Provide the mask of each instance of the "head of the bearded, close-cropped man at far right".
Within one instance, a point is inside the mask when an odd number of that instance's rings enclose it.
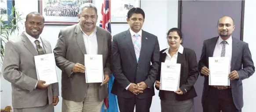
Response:
[[[234,21],[230,17],[223,17],[218,22],[218,34],[221,37],[230,37],[234,31]]]

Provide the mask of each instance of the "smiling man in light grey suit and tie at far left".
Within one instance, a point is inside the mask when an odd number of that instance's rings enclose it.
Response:
[[[26,16],[26,31],[5,44],[2,73],[11,82],[14,112],[54,112],[59,102],[59,83],[44,85],[37,80],[34,56],[51,53],[51,44],[40,34],[44,17],[38,12]]]

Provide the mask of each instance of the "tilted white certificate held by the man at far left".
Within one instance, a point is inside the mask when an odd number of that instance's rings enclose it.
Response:
[[[53,53],[34,56],[34,58],[37,70],[37,80],[45,81],[45,84],[59,82]]]

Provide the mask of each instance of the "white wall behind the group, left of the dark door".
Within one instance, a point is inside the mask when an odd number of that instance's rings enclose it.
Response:
[[[98,8],[98,15],[100,14],[101,5],[103,0],[94,0],[93,4]],[[17,11],[23,13],[23,18],[26,18],[26,14],[32,11],[38,11],[37,0],[15,0]],[[25,6],[25,4],[29,4]],[[154,7],[152,7],[154,6]],[[166,33],[172,27],[177,27],[178,25],[178,0],[142,0],[141,8],[145,12],[145,22],[143,25],[143,30],[148,31],[154,35],[157,35],[160,49],[167,48]],[[25,19],[24,19],[25,20]],[[100,16],[98,18],[99,25]],[[24,23],[20,25],[22,30],[19,34],[24,31]],[[41,36],[51,43],[52,49],[54,49],[55,44],[58,39],[59,30],[66,27],[65,25],[45,25]],[[128,30],[128,24],[111,24],[112,35],[115,35],[121,31]],[[11,37],[15,39],[15,35]],[[61,71],[58,69],[59,78],[61,79]],[[11,105],[11,83],[6,81],[1,76],[0,81],[1,90],[1,105],[0,108],[4,109],[5,106]],[[59,92],[61,94],[61,83],[59,83]],[[160,99],[158,97],[158,91],[155,90],[155,96],[153,97],[150,112],[160,112]],[[60,101],[57,106],[55,106],[55,112],[61,112],[61,102],[62,98],[59,96]]]

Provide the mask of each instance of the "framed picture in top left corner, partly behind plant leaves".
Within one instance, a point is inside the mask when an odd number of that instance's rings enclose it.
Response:
[[[15,18],[15,12],[11,15],[12,7],[15,6],[15,0],[1,0],[1,16],[4,18],[4,23],[9,23],[12,18]]]

